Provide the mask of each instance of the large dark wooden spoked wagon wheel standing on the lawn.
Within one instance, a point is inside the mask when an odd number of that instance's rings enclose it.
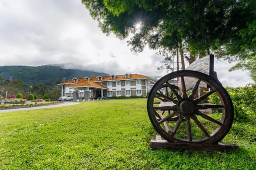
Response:
[[[207,91],[200,95],[203,86]],[[217,104],[207,101],[211,95]],[[149,93],[147,109],[155,130],[169,142],[217,143],[230,130],[234,117],[232,101],[221,83],[191,70],[158,80]]]

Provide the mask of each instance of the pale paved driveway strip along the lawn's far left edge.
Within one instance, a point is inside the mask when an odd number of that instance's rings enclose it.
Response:
[[[77,104],[79,104],[79,102],[65,102],[65,103],[61,103],[61,104],[57,104],[57,105],[5,109],[5,110],[0,110],[0,113],[2,113],[2,112],[15,112],[15,111],[28,111],[28,110],[53,108],[53,107],[63,107],[63,106],[70,106],[70,105],[77,105]]]

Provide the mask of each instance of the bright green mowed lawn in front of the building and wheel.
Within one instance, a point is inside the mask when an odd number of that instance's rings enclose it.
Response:
[[[0,169],[256,169],[255,117],[223,142],[236,151],[153,150],[146,99],[0,113]]]

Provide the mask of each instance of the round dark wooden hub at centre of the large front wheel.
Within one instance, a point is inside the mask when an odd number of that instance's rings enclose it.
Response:
[[[195,104],[189,99],[183,99],[178,103],[178,109],[183,116],[195,114]]]

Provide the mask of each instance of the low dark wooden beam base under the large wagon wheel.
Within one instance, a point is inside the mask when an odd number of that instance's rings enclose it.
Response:
[[[163,140],[160,135],[151,139],[150,145],[153,149],[181,149],[181,150],[235,150],[238,145],[231,143],[198,144],[198,143],[172,143]]]

